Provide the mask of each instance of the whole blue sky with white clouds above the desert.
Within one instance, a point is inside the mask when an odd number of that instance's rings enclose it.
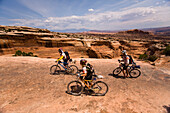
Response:
[[[0,25],[51,31],[170,26],[170,0],[0,0]]]

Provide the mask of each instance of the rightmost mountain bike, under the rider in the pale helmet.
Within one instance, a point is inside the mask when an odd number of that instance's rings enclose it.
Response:
[[[133,64],[131,66],[128,66],[128,72],[129,72],[130,77],[131,78],[139,77],[141,75],[141,71],[139,69],[140,69],[140,65]],[[113,75],[118,76],[122,71],[123,71],[123,64],[120,63],[119,67],[113,70]]]

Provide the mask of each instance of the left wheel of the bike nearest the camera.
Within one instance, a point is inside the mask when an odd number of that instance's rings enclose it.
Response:
[[[76,85],[73,85],[73,84],[76,84]],[[79,85],[78,85],[79,84]],[[77,90],[78,89],[78,90]],[[72,95],[75,95],[75,96],[78,96],[78,95],[81,95],[82,91],[83,91],[83,85],[81,82],[79,81],[71,81],[68,85],[67,85],[67,92],[72,94]]]

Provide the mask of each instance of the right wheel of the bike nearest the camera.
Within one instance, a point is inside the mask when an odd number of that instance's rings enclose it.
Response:
[[[103,93],[99,93],[99,91],[102,90],[102,87],[101,85],[99,86],[99,84],[104,85],[106,88]],[[104,96],[108,92],[108,85],[103,81],[97,81],[92,85],[92,90],[94,91],[95,95]]]

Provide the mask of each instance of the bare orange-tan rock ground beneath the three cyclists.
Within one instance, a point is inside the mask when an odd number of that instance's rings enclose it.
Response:
[[[166,113],[170,109],[170,73],[157,67],[138,61],[142,75],[122,79],[111,76],[117,59],[88,59],[104,76],[109,91],[105,96],[73,96],[66,90],[76,77],[50,75],[54,61],[0,56],[0,113]]]

